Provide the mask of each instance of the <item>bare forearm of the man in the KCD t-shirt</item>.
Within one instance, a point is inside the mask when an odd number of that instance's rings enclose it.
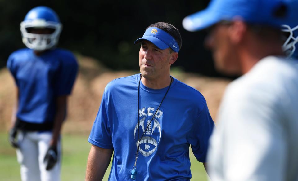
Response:
[[[102,180],[106,173],[114,149],[100,148],[95,145],[91,146],[85,181],[98,181]]]

